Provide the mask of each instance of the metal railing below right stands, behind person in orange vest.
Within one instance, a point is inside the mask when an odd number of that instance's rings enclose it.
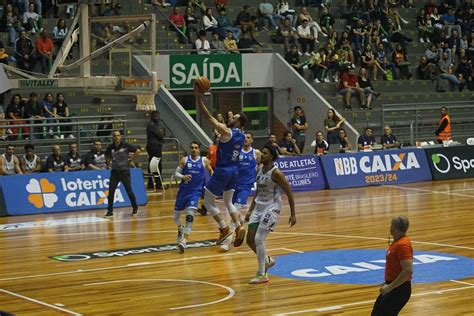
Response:
[[[390,125],[399,139],[409,139],[411,144],[417,140],[433,140],[441,106],[448,107],[455,140],[474,135],[474,101],[383,104],[382,126]]]

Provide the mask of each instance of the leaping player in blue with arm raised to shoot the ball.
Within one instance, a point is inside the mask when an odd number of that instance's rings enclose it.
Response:
[[[196,96],[196,106],[199,108],[201,115],[220,135],[217,145],[216,168],[204,192],[204,205],[219,224],[220,234],[217,244],[221,244],[227,237],[233,234],[233,231],[225,223],[216,206],[216,197],[219,196],[222,196],[225,208],[236,226],[236,241],[243,240],[245,238],[245,229],[240,224],[241,215],[232,203],[232,198],[239,174],[237,167],[238,158],[245,139],[242,128],[247,117],[243,113],[238,113],[227,122],[227,125],[220,123],[207,109],[204,104],[203,94],[197,90],[196,86],[194,87],[194,95]]]

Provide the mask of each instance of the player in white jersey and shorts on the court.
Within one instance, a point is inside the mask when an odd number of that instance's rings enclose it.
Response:
[[[290,185],[273,162],[278,158],[276,148],[266,145],[262,149],[261,165],[257,171],[257,193],[250,205],[245,220],[249,222],[247,244],[257,254],[258,272],[250,284],[269,281],[267,270],[275,260],[265,252],[265,239],[275,229],[281,212],[281,192],[284,191],[290,204],[290,227],[296,224],[295,201]]]

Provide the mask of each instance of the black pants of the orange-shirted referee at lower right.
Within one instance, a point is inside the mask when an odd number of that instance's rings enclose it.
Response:
[[[407,281],[385,295],[380,294],[372,309],[372,316],[396,316],[411,295],[411,282]]]

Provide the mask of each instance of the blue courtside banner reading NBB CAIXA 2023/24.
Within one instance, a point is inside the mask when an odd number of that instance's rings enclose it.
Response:
[[[330,189],[431,180],[423,149],[325,155],[321,162]]]

